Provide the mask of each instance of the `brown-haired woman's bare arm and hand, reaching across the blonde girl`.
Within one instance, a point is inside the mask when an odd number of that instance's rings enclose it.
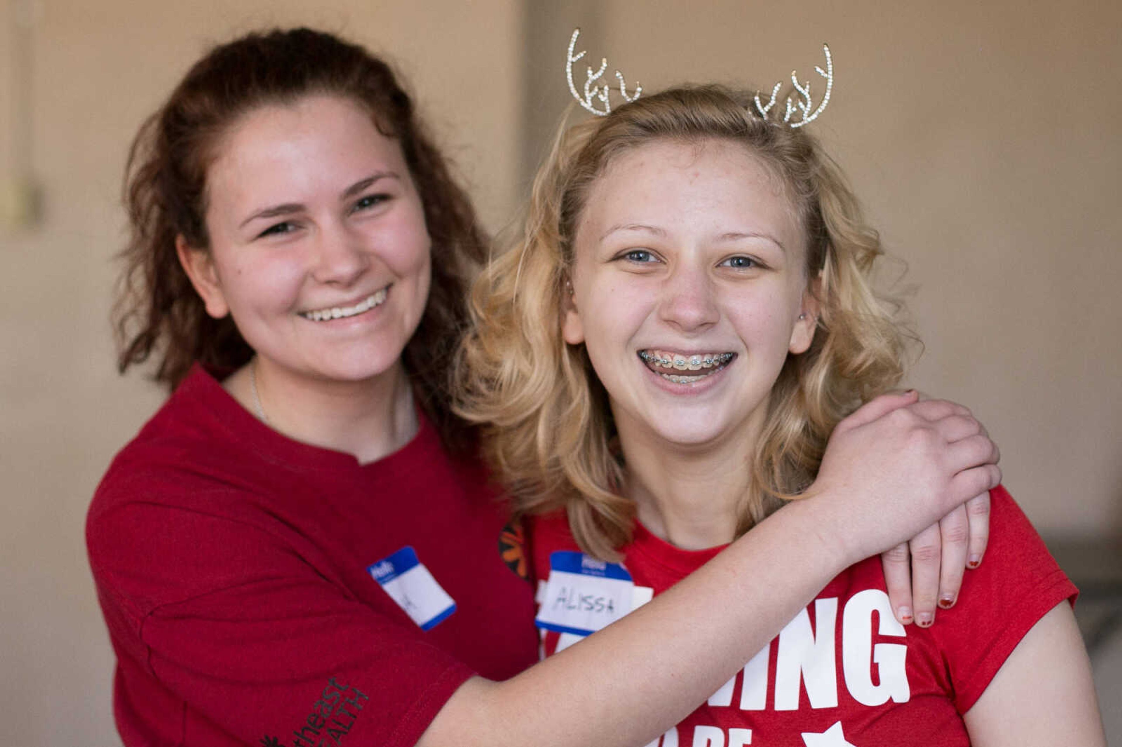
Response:
[[[420,747],[633,747],[663,734],[837,573],[996,485],[1000,473],[984,469],[988,440],[980,454],[945,459],[939,425],[901,412],[913,402],[858,409],[830,439],[806,498],[653,601],[512,680],[466,682]]]

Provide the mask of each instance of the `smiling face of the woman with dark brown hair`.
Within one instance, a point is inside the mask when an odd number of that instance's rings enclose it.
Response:
[[[359,381],[396,370],[429,296],[430,239],[397,142],[335,96],[242,117],[206,173],[209,250],[178,242],[214,317],[263,375]]]

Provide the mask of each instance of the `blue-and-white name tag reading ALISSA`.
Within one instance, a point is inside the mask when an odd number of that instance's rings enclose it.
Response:
[[[632,611],[635,583],[618,563],[606,563],[585,553],[550,554],[537,627],[587,636]]]

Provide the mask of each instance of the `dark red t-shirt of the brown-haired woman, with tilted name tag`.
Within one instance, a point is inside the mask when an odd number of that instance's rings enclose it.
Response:
[[[359,464],[193,370],[88,519],[125,743],[412,745],[472,672],[532,664],[533,600],[495,552],[505,511],[486,486],[426,421]],[[407,570],[416,621],[390,596]]]

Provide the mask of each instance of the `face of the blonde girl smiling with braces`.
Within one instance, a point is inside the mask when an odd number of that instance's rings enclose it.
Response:
[[[640,146],[592,184],[574,252],[563,336],[586,345],[625,448],[754,439],[817,312],[780,182],[736,144]]]

